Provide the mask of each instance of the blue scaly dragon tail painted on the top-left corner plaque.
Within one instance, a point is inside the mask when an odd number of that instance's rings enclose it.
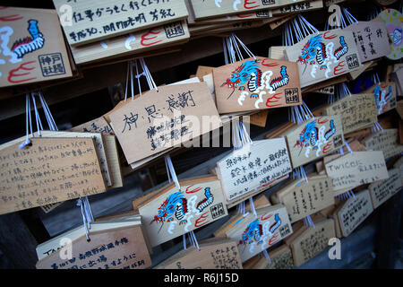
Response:
[[[30,36],[16,40],[11,48],[18,58],[42,48],[45,44],[45,39],[39,31],[37,20],[28,21],[28,31],[30,32]]]

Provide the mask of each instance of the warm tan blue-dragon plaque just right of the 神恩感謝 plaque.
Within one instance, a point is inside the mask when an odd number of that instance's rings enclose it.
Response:
[[[296,63],[248,58],[213,69],[219,114],[301,105]]]

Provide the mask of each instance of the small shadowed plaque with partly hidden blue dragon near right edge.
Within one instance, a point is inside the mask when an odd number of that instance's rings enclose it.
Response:
[[[378,115],[382,115],[390,109],[395,109],[397,106],[396,84],[393,82],[382,82],[381,84],[376,84],[370,89],[364,91],[364,93],[373,94],[376,108],[378,109]]]

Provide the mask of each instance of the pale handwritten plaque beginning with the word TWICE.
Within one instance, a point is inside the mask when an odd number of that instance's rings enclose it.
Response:
[[[347,153],[325,163],[325,169],[332,178],[333,190],[351,189],[388,178],[385,158],[381,151]]]

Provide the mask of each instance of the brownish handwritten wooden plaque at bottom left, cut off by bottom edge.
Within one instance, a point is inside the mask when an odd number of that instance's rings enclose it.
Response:
[[[71,257],[67,254],[70,249]],[[85,235],[44,257],[37,269],[144,269],[150,267],[150,254],[141,226]]]

